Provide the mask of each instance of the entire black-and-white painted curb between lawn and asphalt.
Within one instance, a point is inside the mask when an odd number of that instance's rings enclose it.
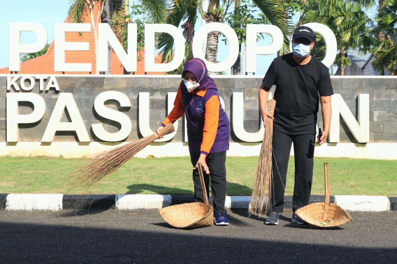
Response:
[[[292,208],[292,196],[285,196],[284,207]],[[226,196],[225,207],[248,209],[251,196]],[[194,202],[193,195],[152,194],[15,194],[0,193],[0,210],[133,210],[159,209],[169,205]],[[313,195],[310,203],[324,202],[324,196]],[[397,197],[335,195],[330,197],[345,210],[379,212],[397,211]],[[212,197],[210,197],[212,203]]]

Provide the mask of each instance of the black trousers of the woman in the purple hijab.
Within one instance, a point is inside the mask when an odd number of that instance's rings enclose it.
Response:
[[[190,153],[190,160],[193,166],[196,166],[200,153]],[[214,199],[214,214],[224,213],[225,210],[225,198],[226,198],[226,151],[208,153],[206,158],[206,163],[210,169],[210,174],[204,172],[204,182],[207,190],[207,197],[210,195],[210,190],[208,189],[211,177],[211,191],[212,198]],[[193,183],[195,184],[195,200],[204,203],[203,190],[200,182],[200,174],[198,169],[193,170]]]

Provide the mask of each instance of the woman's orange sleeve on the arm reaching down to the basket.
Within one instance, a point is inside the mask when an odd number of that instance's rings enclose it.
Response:
[[[200,153],[208,155],[214,144],[219,122],[219,98],[214,95],[205,103],[204,129]]]

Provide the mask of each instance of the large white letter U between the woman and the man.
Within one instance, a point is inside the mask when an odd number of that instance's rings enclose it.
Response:
[[[244,142],[260,142],[263,140],[263,134],[265,128],[263,126],[262,116],[259,120],[259,131],[258,132],[247,132],[244,130],[244,93],[234,92],[233,93],[233,107],[232,107],[232,117],[233,117],[233,132],[240,140]],[[272,94],[269,94],[269,99],[272,98]]]

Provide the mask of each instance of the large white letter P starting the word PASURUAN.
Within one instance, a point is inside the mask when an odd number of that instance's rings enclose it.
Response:
[[[8,93],[6,94],[7,109],[7,142],[18,141],[18,124],[31,124],[40,121],[46,110],[46,102],[38,94]],[[27,115],[18,114],[18,102],[25,101],[33,104],[34,110]]]

